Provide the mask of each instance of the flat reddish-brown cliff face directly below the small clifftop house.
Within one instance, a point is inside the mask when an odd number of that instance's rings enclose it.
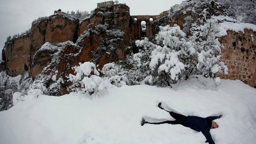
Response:
[[[78,18],[55,14],[50,16],[46,27],[45,42],[76,41]]]

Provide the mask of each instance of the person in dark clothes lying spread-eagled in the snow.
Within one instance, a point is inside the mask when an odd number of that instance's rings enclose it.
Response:
[[[165,110],[164,108],[161,107],[161,102],[158,103],[158,107],[161,108],[162,110]],[[166,110],[165,110],[166,111]],[[206,118],[198,117],[198,116],[185,116],[181,115],[178,113],[175,113],[173,111],[167,111],[169,114],[176,120],[167,120],[164,122],[158,122],[158,123],[152,123],[145,121],[144,118],[141,120],[141,126],[143,126],[145,123],[150,123],[150,124],[163,124],[163,123],[169,123],[169,124],[181,124],[185,127],[191,128],[197,132],[202,132],[202,134],[206,137],[206,143],[209,144],[215,144],[214,141],[211,138],[210,134],[210,128],[218,128],[218,124],[214,122],[214,119],[219,119],[222,117],[222,115],[219,116],[209,116]]]

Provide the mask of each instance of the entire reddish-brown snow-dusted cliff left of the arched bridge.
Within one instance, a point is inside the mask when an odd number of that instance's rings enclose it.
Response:
[[[49,95],[64,95],[70,85],[66,76],[74,73],[72,67],[79,62],[91,61],[100,69],[124,60],[131,53],[131,23],[124,4],[97,8],[85,20],[59,13],[37,19],[30,32],[5,43],[0,70],[12,77],[26,74],[26,78],[16,78],[14,85],[1,73],[0,110],[12,106],[12,94],[26,89],[24,82],[39,82]]]

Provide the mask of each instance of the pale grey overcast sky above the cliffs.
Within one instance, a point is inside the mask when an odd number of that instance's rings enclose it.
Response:
[[[0,0],[0,49],[8,36],[30,29],[33,20],[62,11],[88,11],[104,0]],[[108,0],[106,0],[108,1]],[[115,0],[113,0],[115,1]],[[131,15],[158,15],[183,0],[119,0],[130,7]],[[0,56],[1,57],[1,56]]]

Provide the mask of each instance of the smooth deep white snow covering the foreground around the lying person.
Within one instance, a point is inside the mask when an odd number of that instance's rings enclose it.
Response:
[[[231,80],[216,89],[212,80],[192,77],[172,89],[122,86],[93,98],[31,93],[0,112],[0,144],[205,144],[201,132],[182,125],[140,126],[142,117],[173,119],[158,102],[184,115],[222,114],[210,131],[216,144],[255,144],[256,89]]]

